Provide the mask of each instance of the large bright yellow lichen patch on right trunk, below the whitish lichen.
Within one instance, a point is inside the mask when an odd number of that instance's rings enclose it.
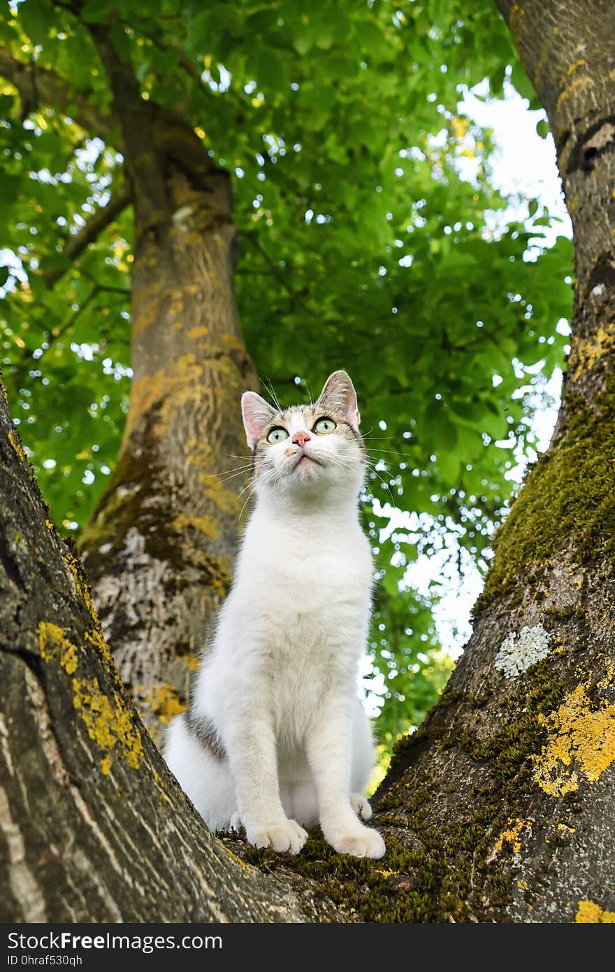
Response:
[[[539,719],[549,737],[531,759],[534,781],[545,793],[572,793],[580,778],[596,782],[615,761],[615,705],[602,702],[593,712],[584,685],[568,692],[557,712]]]

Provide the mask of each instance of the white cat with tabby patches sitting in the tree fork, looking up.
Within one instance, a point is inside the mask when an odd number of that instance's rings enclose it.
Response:
[[[358,697],[371,550],[359,525],[365,447],[353,383],[277,409],[241,399],[256,495],[216,633],[166,761],[211,830],[298,853],[320,823],[341,853],[382,857],[363,822],[374,765]]]

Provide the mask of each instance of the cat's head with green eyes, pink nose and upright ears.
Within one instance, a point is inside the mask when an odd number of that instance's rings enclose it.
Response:
[[[253,450],[256,493],[358,496],[365,474],[357,394],[346,371],[334,371],[319,399],[273,408],[256,392],[241,399]]]

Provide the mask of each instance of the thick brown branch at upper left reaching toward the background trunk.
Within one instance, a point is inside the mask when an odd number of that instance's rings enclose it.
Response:
[[[58,108],[70,115],[90,135],[112,144],[121,151],[121,137],[115,120],[101,115],[83,92],[74,91],[70,83],[48,68],[38,67],[35,61],[25,64],[5,47],[0,46],[0,75],[10,81],[19,92],[21,117],[26,118],[40,103]],[[69,110],[70,109],[70,110]]]

